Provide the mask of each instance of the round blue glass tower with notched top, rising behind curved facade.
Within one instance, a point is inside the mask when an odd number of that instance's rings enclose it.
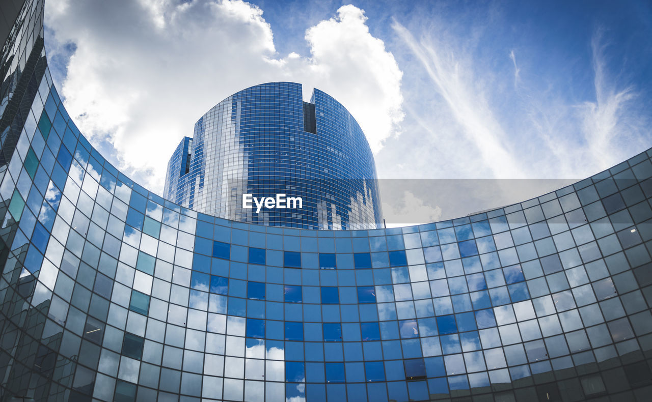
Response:
[[[301,197],[302,208],[243,208],[243,194]],[[222,100],[168,163],[164,198],[204,214],[301,229],[378,229],[376,165],[344,106],[301,84],[256,85]]]

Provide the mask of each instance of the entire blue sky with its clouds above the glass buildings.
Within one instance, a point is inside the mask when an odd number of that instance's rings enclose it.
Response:
[[[272,80],[340,100],[386,179],[582,179],[652,146],[649,2],[48,0],[46,16],[71,115],[159,192],[207,109]],[[475,208],[428,197],[385,213]]]

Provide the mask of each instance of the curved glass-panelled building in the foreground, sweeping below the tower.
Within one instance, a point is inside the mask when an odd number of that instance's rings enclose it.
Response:
[[[445,222],[235,222],[148,192],[80,134],[42,1],[8,32],[1,400],[649,400],[652,150]]]

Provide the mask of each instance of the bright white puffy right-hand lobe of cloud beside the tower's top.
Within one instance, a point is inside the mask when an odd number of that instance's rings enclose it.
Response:
[[[348,99],[344,106],[363,128],[372,151],[378,151],[404,117],[403,73],[383,41],[369,33],[363,10],[346,5],[337,13],[338,18],[306,32],[310,76],[315,76],[315,85],[325,81],[320,89],[334,98]]]

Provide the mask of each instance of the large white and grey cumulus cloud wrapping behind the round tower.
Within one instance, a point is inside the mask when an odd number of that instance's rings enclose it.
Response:
[[[263,11],[241,0],[48,0],[46,25],[48,57],[70,51],[58,85],[70,115],[156,192],[194,122],[251,85],[318,87],[351,111],[374,151],[403,119],[402,72],[351,5],[306,31],[309,55],[279,55]]]

